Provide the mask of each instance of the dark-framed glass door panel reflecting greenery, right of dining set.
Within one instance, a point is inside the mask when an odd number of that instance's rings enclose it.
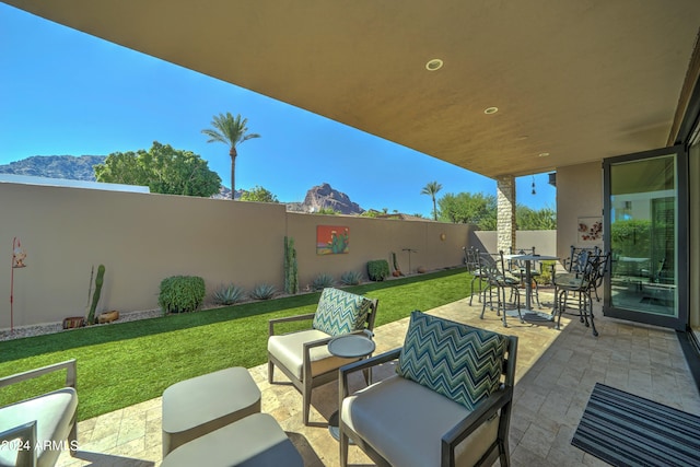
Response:
[[[667,148],[606,159],[604,314],[685,329],[687,157]]]

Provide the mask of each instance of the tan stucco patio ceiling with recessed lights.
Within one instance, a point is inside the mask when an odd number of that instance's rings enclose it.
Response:
[[[700,25],[698,0],[7,3],[491,177],[666,145]]]

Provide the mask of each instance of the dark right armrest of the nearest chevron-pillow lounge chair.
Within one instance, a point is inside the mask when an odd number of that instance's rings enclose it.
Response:
[[[471,413],[450,429],[441,441],[442,466],[454,466],[455,447],[512,400],[513,388],[506,386],[479,402]]]

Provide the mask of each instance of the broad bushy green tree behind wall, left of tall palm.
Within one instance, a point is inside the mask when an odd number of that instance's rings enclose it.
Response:
[[[153,141],[150,150],[115,152],[94,167],[97,182],[148,186],[151,192],[210,197],[221,178],[191,151]]]

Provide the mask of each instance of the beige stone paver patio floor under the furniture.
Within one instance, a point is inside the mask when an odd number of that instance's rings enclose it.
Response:
[[[551,295],[547,300],[547,293],[541,292],[540,296],[544,305],[551,303]],[[571,446],[596,382],[700,415],[698,387],[673,330],[605,318],[599,306],[597,338],[568,315],[561,330],[552,323],[521,324],[516,318],[509,318],[504,328],[495,312],[487,308],[480,319],[480,304],[476,299],[474,306],[468,302],[463,299],[428,313],[518,336],[510,433],[514,466],[606,465]],[[407,325],[405,318],[376,328],[376,353],[399,347]],[[302,453],[305,466],[337,466],[338,442],[325,425],[303,425],[301,395],[289,384],[268,384],[267,364],[249,371],[262,393],[262,411],[278,420]],[[281,372],[275,375],[276,382],[285,381]],[[148,384],[148,375],[143,375],[143,384]],[[325,424],[338,406],[337,383],[315,389],[312,406],[311,420]],[[82,421],[78,441],[77,457],[63,453],[59,466],[160,465],[161,399]],[[373,465],[357,447],[350,447],[350,463]]]

